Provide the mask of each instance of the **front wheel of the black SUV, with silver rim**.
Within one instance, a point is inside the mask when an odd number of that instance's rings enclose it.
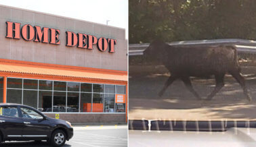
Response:
[[[52,146],[63,146],[66,142],[66,133],[61,129],[57,129],[51,134],[50,142]]]

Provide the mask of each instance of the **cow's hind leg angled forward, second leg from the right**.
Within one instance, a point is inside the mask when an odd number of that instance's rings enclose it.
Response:
[[[217,92],[219,92],[219,90],[221,90],[221,88],[224,86],[224,76],[225,73],[215,75],[216,86],[213,92],[207,96],[207,100],[211,100],[211,98],[213,98],[213,96],[215,96],[215,94],[217,94]]]

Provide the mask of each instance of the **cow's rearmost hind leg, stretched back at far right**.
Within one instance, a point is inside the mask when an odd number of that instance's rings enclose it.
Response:
[[[242,90],[244,90],[244,95],[247,97],[249,101],[251,101],[251,95],[248,92],[247,86],[245,85],[244,77],[239,71],[230,71],[229,72],[235,79],[236,81],[240,84],[242,87]]]

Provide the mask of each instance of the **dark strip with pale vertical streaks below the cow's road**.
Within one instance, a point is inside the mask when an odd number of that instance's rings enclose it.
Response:
[[[256,121],[158,121],[129,120],[129,129],[166,131],[226,131],[232,127],[256,127]]]

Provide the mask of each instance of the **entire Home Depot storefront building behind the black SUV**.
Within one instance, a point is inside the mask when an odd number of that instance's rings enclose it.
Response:
[[[0,100],[72,123],[127,121],[125,30],[0,6]]]

